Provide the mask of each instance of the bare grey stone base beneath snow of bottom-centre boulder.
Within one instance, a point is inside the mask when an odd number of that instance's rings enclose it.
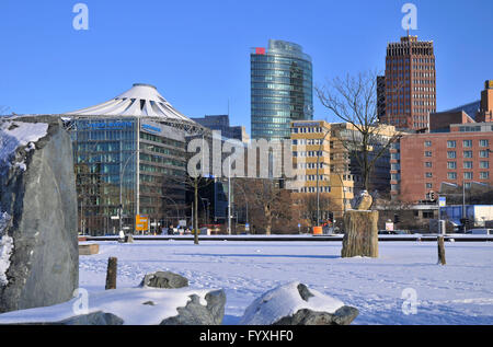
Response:
[[[352,306],[342,306],[334,313],[298,310],[294,315],[282,317],[273,325],[348,325],[359,311]]]

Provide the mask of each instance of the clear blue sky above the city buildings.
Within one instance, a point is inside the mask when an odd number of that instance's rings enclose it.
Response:
[[[89,31],[72,27],[78,2]],[[411,34],[435,43],[437,108],[478,100],[493,79],[491,0],[0,0],[0,105],[64,113],[144,82],[191,117],[225,114],[229,100],[231,123],[250,132],[251,47],[300,44],[316,84],[382,71],[406,2],[417,7]],[[314,117],[336,120],[316,97]]]

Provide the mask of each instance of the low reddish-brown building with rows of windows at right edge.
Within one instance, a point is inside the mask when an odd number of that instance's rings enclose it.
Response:
[[[390,172],[392,196],[415,203],[438,194],[444,184],[465,188],[470,188],[472,183],[493,185],[493,103],[489,102],[492,86],[486,81],[475,115],[465,111],[433,113],[431,132],[410,134],[394,144]]]

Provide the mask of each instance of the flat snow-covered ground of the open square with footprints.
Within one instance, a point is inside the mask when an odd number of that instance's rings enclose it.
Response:
[[[238,324],[254,299],[293,280],[359,309],[353,324],[493,324],[491,242],[447,242],[446,266],[437,265],[435,242],[380,242],[377,259],[341,258],[341,242],[99,244],[100,254],[80,256],[81,288],[104,290],[107,258],[116,256],[118,288],[156,270],[183,275],[192,288],[223,288],[225,324]]]

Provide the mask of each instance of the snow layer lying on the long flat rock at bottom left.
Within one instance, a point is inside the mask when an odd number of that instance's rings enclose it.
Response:
[[[13,311],[0,314],[0,324],[56,323],[77,315],[102,311],[112,313],[125,325],[158,325],[179,314],[196,294],[203,305],[209,289],[125,288],[89,294],[79,289],[77,298],[47,308]]]

